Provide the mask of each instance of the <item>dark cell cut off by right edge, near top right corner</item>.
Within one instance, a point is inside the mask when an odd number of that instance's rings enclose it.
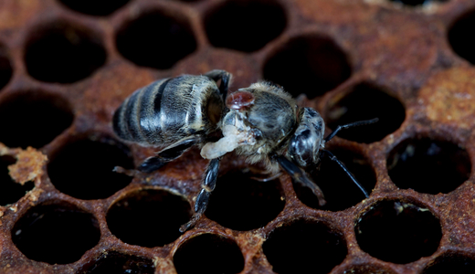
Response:
[[[475,64],[475,39],[471,38],[473,26],[475,26],[475,11],[471,10],[449,28],[449,43],[455,53],[465,58],[471,64]]]

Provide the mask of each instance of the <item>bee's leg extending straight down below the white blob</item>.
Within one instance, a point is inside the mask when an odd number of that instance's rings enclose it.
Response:
[[[201,180],[201,191],[196,197],[195,214],[190,221],[180,227],[180,232],[184,233],[188,228],[195,226],[196,222],[203,216],[209,202],[209,196],[215,190],[217,171],[221,158],[212,159],[206,167],[206,172]]]

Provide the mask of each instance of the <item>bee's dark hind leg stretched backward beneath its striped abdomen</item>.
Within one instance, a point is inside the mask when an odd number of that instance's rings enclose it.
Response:
[[[190,136],[178,142],[174,142],[157,153],[156,156],[145,159],[145,161],[143,161],[143,163],[138,167],[138,170],[142,173],[151,173],[161,168],[166,163],[180,157],[200,140],[200,137]]]

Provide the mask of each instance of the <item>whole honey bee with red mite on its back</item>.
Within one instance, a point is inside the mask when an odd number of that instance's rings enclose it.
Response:
[[[228,94],[230,80],[230,73],[218,69],[201,76],[160,79],[134,91],[113,116],[113,130],[122,140],[164,147],[138,167],[141,172],[161,168],[194,145],[210,160],[195,200],[195,213],[180,227],[181,232],[195,226],[205,213],[216,186],[219,161],[233,151],[246,157],[248,163],[265,163],[269,174],[279,174],[282,168],[295,182],[309,187],[320,205],[326,203],[322,190],[303,169],[327,155],[368,197],[364,187],[324,150],[324,145],[342,129],[377,119],[339,126],[323,138],[325,123],[319,112],[299,107],[280,86],[261,81]],[[219,132],[221,138],[213,140]]]

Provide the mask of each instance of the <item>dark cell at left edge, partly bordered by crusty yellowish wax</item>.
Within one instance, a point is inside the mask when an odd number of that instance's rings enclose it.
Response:
[[[0,205],[16,203],[26,192],[35,187],[33,182],[18,184],[8,174],[8,165],[15,163],[15,159],[9,156],[0,157]]]

